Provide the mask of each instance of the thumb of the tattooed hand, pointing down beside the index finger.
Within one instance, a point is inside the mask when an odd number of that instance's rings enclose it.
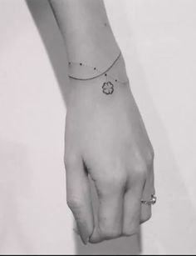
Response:
[[[86,244],[94,227],[88,173],[80,157],[66,158],[65,163],[67,204],[76,219],[81,240]]]

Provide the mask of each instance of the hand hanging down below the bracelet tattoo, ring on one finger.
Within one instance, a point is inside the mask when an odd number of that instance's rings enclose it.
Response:
[[[71,81],[66,114],[67,203],[84,243],[137,233],[151,216],[153,148],[129,86],[102,93],[103,78]],[[88,175],[99,198],[93,213]]]

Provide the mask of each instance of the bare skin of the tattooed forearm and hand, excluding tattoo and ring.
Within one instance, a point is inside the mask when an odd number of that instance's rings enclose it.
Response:
[[[105,7],[96,0],[51,1],[69,61],[93,63],[105,70],[118,56]],[[90,70],[76,68],[78,76]],[[127,81],[124,58],[109,74]],[[141,204],[154,193],[154,151],[130,84],[114,83],[105,95],[101,76],[90,81],[70,79],[67,98],[65,163],[67,203],[84,243],[131,236],[151,217]],[[99,206],[93,212],[91,177]]]

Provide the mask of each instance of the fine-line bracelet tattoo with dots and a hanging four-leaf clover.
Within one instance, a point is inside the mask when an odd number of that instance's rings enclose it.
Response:
[[[120,54],[118,55],[117,58],[115,58],[115,61],[110,65],[109,68],[107,68],[104,72],[100,71],[98,68],[96,67],[92,67],[90,65],[86,65],[84,63],[74,63],[74,62],[69,62],[69,66],[71,67],[72,65],[78,65],[78,66],[83,66],[85,68],[91,68],[93,69],[94,71],[96,71],[98,74],[94,77],[91,77],[91,78],[76,78],[72,75],[69,75],[69,78],[72,78],[72,79],[75,79],[75,80],[81,80],[81,81],[88,81],[88,80],[92,80],[92,79],[95,79],[95,78],[99,78],[101,76],[105,76],[105,83],[103,83],[102,85],[102,92],[105,93],[106,95],[110,95],[114,92],[114,82],[115,83],[121,83],[121,84],[126,84],[126,83],[129,83],[129,81],[120,81],[119,79],[117,78],[114,78],[113,76],[111,76],[110,74],[108,74],[108,72],[110,71],[110,69],[115,65],[115,63],[119,60],[121,56],[121,52]],[[110,78],[110,79],[109,79]],[[110,80],[113,80],[114,82],[111,83]]]

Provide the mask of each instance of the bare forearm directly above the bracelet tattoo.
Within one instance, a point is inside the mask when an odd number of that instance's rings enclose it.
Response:
[[[120,53],[102,0],[51,0],[70,61],[103,70]]]

